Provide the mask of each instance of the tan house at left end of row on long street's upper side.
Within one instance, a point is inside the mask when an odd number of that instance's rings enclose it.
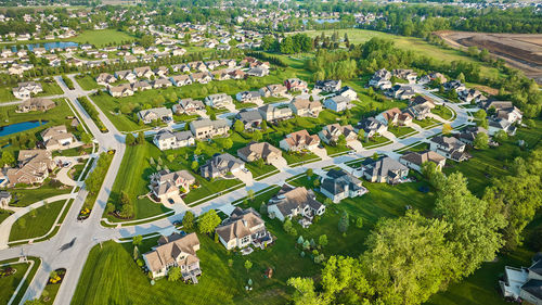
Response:
[[[195,182],[196,179],[188,170],[169,171],[169,169],[163,169],[151,175],[150,189],[154,196],[165,202],[168,199],[190,192],[190,186]]]

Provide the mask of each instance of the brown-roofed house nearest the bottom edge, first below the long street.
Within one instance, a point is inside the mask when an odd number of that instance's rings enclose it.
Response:
[[[184,281],[197,283],[196,277],[202,275],[199,258],[196,255],[198,250],[199,240],[196,233],[172,233],[169,237],[160,237],[158,245],[143,254],[143,260],[153,278],[166,277],[169,268],[180,267]]]

